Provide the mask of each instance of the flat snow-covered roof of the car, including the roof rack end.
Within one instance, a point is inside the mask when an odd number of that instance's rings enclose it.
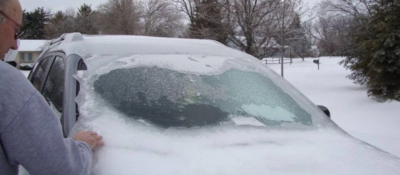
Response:
[[[121,55],[121,57],[170,54],[252,57],[214,40],[81,33],[68,33],[54,39],[48,51],[63,51],[67,57],[78,54],[83,58],[94,54]]]

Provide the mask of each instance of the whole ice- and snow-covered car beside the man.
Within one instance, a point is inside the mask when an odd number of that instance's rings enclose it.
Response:
[[[93,175],[398,175],[258,59],[200,39],[53,40],[28,79],[64,136],[96,131]]]

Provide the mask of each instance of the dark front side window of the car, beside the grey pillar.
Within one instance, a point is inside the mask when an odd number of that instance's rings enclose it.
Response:
[[[59,119],[62,114],[64,76],[64,59],[62,59],[62,57],[56,57],[50,69],[42,94],[50,107],[58,115]]]

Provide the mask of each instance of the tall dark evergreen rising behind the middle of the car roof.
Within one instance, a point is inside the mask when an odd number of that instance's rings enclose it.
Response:
[[[190,25],[190,37],[213,39],[226,44],[228,28],[223,22],[221,6],[218,0],[202,0],[196,6],[193,24]]]

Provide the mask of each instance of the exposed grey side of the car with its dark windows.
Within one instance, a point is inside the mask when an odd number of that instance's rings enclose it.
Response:
[[[72,54],[52,52],[38,60],[33,73],[28,77],[35,88],[44,96],[50,108],[61,122],[64,137],[78,120],[78,105],[74,101],[79,92],[79,82],[72,76],[78,70],[86,70],[82,58]],[[40,81],[39,81],[40,80]]]

